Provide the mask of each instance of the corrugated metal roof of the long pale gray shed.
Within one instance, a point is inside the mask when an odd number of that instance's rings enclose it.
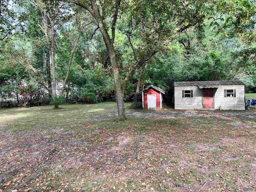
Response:
[[[245,85],[242,81],[191,81],[174,82],[174,86],[198,86],[199,88],[220,88],[222,85]]]

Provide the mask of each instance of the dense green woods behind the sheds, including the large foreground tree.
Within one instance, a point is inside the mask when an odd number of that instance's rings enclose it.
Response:
[[[124,101],[156,84],[242,80],[256,91],[253,0],[2,0],[0,106]]]

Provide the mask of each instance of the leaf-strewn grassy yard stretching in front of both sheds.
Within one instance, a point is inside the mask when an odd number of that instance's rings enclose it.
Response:
[[[0,192],[256,190],[255,109],[130,105],[0,109]]]

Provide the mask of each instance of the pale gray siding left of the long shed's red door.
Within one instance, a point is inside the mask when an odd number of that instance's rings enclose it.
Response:
[[[182,90],[193,90],[192,98],[182,98]],[[174,109],[202,109],[202,89],[198,86],[175,86]]]

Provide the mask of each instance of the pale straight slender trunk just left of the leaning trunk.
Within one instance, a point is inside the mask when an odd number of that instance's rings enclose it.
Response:
[[[55,29],[54,29],[55,20],[51,21],[51,59],[52,59],[52,97],[56,96],[56,68],[55,68],[55,48],[54,48],[54,38],[55,38]]]

